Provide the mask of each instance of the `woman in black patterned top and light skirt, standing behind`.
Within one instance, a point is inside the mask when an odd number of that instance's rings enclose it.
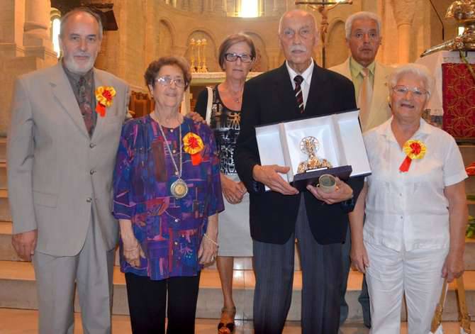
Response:
[[[249,36],[235,34],[226,38],[219,50],[220,67],[226,73],[225,81],[212,89],[210,108],[208,89],[201,91],[195,108],[196,112],[209,120],[209,125],[214,130],[220,154],[221,185],[226,199],[225,211],[219,216],[220,248],[216,258],[224,299],[218,324],[220,334],[233,333],[235,328],[234,257],[252,256],[249,196],[235,169],[234,150],[240,130],[242,90],[255,57],[255,46]]]

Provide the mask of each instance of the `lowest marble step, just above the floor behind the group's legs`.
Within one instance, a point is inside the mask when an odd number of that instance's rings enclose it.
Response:
[[[475,271],[467,271],[464,274],[464,278],[466,304],[469,307],[469,313],[475,314]],[[301,282],[301,272],[295,272],[294,291],[288,316],[289,321],[298,321],[300,318]],[[125,278],[118,267],[114,268],[113,283],[113,314],[127,315]],[[361,283],[362,274],[350,272],[347,291],[347,302],[350,305],[349,321],[362,321],[362,311],[357,302]],[[238,308],[237,317],[240,319],[252,318],[252,298],[255,288],[253,272],[251,270],[235,270],[233,288],[233,296]],[[222,303],[223,297],[218,272],[215,269],[203,270],[196,311],[197,318],[218,318]],[[0,308],[38,308],[35,274],[30,262],[0,261]],[[78,305],[76,305],[75,309],[79,311]],[[404,314],[405,311],[403,311]],[[457,299],[452,284],[447,298],[444,319],[445,321],[457,321],[457,317]]]

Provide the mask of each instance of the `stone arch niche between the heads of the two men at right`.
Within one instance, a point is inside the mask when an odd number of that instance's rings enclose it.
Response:
[[[337,18],[328,27],[325,41],[325,67],[332,67],[344,62],[348,57],[345,41],[345,22]]]

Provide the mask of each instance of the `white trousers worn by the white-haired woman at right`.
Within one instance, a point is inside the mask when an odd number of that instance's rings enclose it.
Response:
[[[371,305],[370,334],[401,333],[403,293],[408,308],[408,334],[430,332],[430,323],[442,291],[442,267],[448,248],[402,250],[365,242],[366,272]]]

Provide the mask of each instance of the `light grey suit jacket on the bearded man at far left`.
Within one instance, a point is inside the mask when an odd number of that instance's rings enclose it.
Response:
[[[45,254],[77,255],[93,211],[107,249],[118,240],[111,184],[129,88],[99,69],[94,81],[116,96],[89,138],[60,63],[16,80],[7,145],[13,233],[38,229],[36,250]]]

